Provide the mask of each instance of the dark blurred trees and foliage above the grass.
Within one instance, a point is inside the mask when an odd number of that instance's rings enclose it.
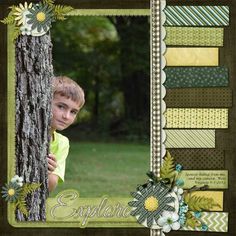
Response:
[[[84,89],[86,104],[66,131],[73,140],[149,143],[147,16],[80,16],[52,28],[54,73]]]

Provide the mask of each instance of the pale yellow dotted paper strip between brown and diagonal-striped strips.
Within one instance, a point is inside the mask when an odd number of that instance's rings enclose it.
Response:
[[[166,128],[228,128],[228,109],[225,108],[168,108]]]

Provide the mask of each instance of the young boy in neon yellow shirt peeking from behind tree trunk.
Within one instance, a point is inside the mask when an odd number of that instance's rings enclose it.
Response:
[[[84,105],[84,91],[73,80],[65,76],[53,79],[52,122],[50,154],[48,157],[48,186],[53,191],[58,181],[64,181],[69,140],[56,130],[69,127]]]

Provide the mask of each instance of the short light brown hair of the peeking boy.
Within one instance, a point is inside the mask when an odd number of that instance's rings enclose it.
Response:
[[[53,96],[59,94],[77,102],[81,108],[85,103],[83,89],[72,79],[66,76],[53,78]]]

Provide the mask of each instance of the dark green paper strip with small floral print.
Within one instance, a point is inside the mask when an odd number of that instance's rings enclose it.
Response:
[[[166,88],[226,87],[228,69],[225,67],[166,67]]]

